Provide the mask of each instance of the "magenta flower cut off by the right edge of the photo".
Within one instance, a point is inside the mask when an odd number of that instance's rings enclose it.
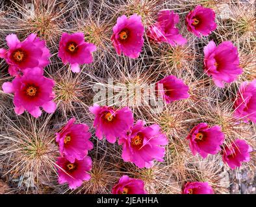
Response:
[[[256,123],[256,80],[240,85],[235,101],[235,116]]]

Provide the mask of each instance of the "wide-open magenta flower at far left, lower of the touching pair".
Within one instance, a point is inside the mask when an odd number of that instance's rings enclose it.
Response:
[[[23,76],[16,76],[12,82],[3,83],[4,93],[14,93],[14,105],[16,114],[22,114],[27,110],[32,116],[38,118],[42,111],[54,113],[56,103],[53,93],[54,81],[43,76],[40,68],[25,71]]]

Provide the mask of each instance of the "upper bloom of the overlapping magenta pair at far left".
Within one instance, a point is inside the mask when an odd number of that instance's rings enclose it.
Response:
[[[49,64],[51,54],[45,46],[45,41],[37,38],[36,34],[30,34],[22,42],[16,34],[9,34],[6,41],[9,49],[0,49],[0,58],[5,58],[11,76],[16,76],[19,70],[25,72],[27,69],[40,68],[43,71]]]

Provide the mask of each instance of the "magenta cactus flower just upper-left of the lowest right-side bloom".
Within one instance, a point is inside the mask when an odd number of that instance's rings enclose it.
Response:
[[[220,145],[224,142],[224,133],[218,125],[209,128],[206,123],[200,123],[190,131],[186,139],[189,140],[193,155],[199,153],[205,158],[208,154],[215,155],[220,151]]]

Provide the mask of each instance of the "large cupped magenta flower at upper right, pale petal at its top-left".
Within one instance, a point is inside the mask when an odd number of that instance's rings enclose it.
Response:
[[[214,41],[210,41],[203,49],[205,53],[205,72],[212,76],[212,80],[218,87],[224,87],[224,83],[237,80],[242,74],[239,67],[237,47],[231,41],[224,41],[216,47]]]

